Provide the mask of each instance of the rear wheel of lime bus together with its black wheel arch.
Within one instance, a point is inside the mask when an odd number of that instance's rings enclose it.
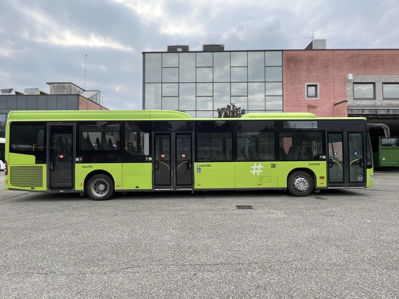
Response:
[[[108,171],[94,170],[86,175],[83,188],[91,199],[105,201],[115,193],[115,180]]]

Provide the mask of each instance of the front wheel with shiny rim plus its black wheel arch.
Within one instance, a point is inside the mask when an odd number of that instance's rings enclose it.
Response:
[[[295,197],[308,196],[316,182],[316,174],[311,169],[295,168],[287,175],[287,190]]]

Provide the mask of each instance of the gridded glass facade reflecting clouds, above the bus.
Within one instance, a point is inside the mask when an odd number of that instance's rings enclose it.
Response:
[[[143,109],[212,118],[230,103],[282,112],[282,51],[143,53]]]

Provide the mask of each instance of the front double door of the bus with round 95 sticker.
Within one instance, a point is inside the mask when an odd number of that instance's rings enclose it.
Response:
[[[328,132],[328,187],[365,187],[364,132]]]

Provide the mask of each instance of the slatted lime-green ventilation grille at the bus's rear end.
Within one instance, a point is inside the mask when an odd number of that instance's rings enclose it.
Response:
[[[11,166],[10,184],[15,187],[43,187],[43,167]]]

